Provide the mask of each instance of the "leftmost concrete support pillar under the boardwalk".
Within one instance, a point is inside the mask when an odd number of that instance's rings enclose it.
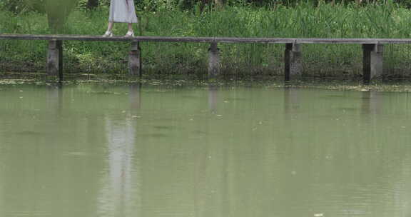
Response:
[[[63,41],[49,41],[47,75],[59,76],[59,81],[63,81]]]

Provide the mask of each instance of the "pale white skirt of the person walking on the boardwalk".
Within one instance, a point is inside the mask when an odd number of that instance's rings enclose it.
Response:
[[[110,22],[116,23],[137,23],[136,9],[133,0],[111,0]]]

